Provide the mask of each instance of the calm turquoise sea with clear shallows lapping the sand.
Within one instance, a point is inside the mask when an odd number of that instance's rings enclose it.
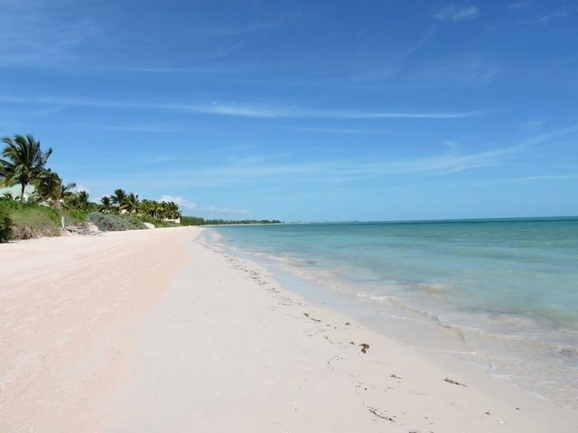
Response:
[[[375,325],[410,344],[470,354],[489,373],[578,406],[578,218],[206,233],[211,244],[308,281],[307,290],[367,307]]]

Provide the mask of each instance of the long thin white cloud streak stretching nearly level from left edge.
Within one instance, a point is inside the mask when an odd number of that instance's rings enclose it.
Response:
[[[154,109],[182,111],[199,115],[225,115],[255,118],[331,118],[331,119],[462,119],[484,115],[480,111],[464,112],[363,112],[347,110],[312,110],[295,107],[246,106],[235,103],[211,102],[187,103],[144,103],[126,100],[106,100],[82,97],[10,97],[0,95],[0,102],[30,105],[93,106],[107,108],[130,108],[135,110]]]

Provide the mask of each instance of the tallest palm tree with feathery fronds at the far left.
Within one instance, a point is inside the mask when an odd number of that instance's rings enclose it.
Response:
[[[6,186],[20,185],[20,201],[24,201],[24,189],[38,181],[48,170],[44,167],[52,149],[42,152],[40,142],[32,135],[14,135],[2,139],[4,159],[0,159],[0,177]]]

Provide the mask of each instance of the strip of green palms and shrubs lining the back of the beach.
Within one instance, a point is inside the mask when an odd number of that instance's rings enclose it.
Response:
[[[172,201],[140,198],[126,189],[92,201],[89,191],[65,182],[48,167],[52,149],[42,151],[31,134],[2,139],[0,188],[14,187],[0,197],[0,242],[61,235],[63,226],[94,225],[101,231],[135,230],[147,226],[274,224],[278,220],[231,221],[183,217]]]

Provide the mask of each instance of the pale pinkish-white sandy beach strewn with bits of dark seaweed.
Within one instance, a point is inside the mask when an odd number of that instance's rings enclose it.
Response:
[[[578,429],[575,410],[313,306],[200,230],[0,245],[0,431]]]

